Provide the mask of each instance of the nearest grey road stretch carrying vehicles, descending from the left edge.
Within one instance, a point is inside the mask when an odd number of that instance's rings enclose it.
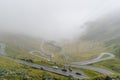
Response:
[[[62,71],[62,69],[60,69],[60,68],[54,69],[53,67],[48,67],[48,66],[38,65],[38,64],[35,64],[35,63],[26,62],[26,61],[23,61],[23,60],[13,59],[13,58],[7,57],[7,55],[4,55],[4,53],[5,53],[5,45],[3,46],[2,44],[0,44],[0,55],[4,58],[10,59],[10,60],[15,61],[17,63],[24,64],[24,65],[27,65],[27,66],[30,66],[30,67],[33,67],[33,68],[36,68],[36,69],[41,69],[41,70],[44,70],[44,71],[49,71],[49,72],[52,72],[52,73],[56,73],[56,74],[59,74],[59,75],[62,75],[62,76],[73,77],[73,78],[77,78],[77,79],[88,78],[84,74],[77,75],[76,73],[82,73],[82,72],[79,72],[79,71],[76,71],[76,70],[72,70],[72,71],[67,70],[67,72],[66,72],[66,71]]]

